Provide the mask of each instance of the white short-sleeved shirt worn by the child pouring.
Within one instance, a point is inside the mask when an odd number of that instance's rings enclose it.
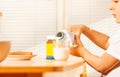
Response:
[[[106,52],[120,60],[120,30],[113,37],[111,37],[109,41],[110,46]],[[111,71],[105,77],[120,77],[120,66]]]

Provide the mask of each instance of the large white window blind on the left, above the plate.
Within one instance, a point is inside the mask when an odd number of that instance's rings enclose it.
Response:
[[[0,40],[13,51],[44,42],[56,33],[56,9],[56,0],[0,0]]]

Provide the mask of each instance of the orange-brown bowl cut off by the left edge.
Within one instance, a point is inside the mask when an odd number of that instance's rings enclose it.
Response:
[[[0,41],[0,62],[2,62],[8,56],[10,48],[10,41]]]

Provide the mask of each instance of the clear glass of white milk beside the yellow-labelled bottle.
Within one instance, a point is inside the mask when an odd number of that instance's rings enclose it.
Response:
[[[55,58],[55,60],[61,60],[61,61],[67,60],[69,58],[68,48],[55,47],[54,48],[54,58]]]

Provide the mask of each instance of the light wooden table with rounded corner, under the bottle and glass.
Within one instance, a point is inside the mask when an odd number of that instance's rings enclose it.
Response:
[[[46,72],[73,70],[84,64],[81,60],[48,61],[35,57],[32,60],[6,59],[0,63],[0,77],[43,77]]]

